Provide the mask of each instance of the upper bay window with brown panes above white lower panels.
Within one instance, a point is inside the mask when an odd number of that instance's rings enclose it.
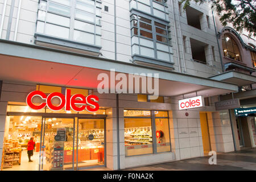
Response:
[[[131,15],[132,54],[152,57],[153,59],[172,61],[171,40],[168,37],[167,24],[157,22],[150,17]]]

